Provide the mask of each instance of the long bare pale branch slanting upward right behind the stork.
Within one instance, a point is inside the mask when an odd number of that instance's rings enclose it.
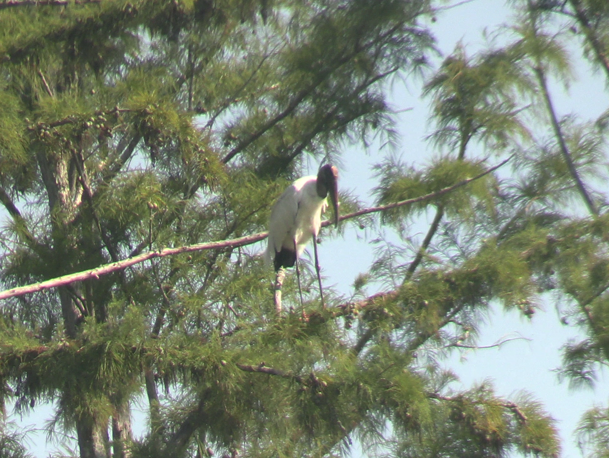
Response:
[[[362,210],[354,211],[353,213],[346,214],[340,217],[340,220],[351,219],[357,216],[362,216],[370,213],[377,213],[379,211],[390,210],[392,208],[396,208],[403,205],[410,205],[412,203],[424,202],[426,200],[432,200],[436,197],[443,196],[448,194],[451,191],[454,191],[457,188],[461,188],[462,186],[471,183],[472,181],[479,180],[479,178],[484,177],[485,175],[490,174],[495,171],[499,167],[506,164],[513,156],[510,156],[506,160],[497,164],[496,166],[490,167],[484,172],[476,175],[472,178],[467,178],[466,180],[459,181],[458,183],[447,186],[446,188],[442,188],[438,191],[430,192],[429,194],[425,194],[424,196],[414,197],[413,199],[402,200],[401,202],[393,202],[388,203],[387,205],[379,205],[373,206],[370,208],[363,208]],[[322,222],[322,227],[326,227],[333,224],[333,222],[329,220],[325,220]],[[104,266],[99,266],[94,269],[83,270],[82,272],[70,273],[69,275],[63,275],[63,277],[52,278],[51,280],[46,280],[41,283],[34,283],[27,286],[20,286],[12,289],[7,289],[6,291],[0,292],[0,299],[6,299],[9,297],[21,296],[24,294],[29,294],[32,292],[43,291],[44,289],[51,289],[58,286],[63,286],[69,283],[74,283],[75,281],[88,280],[90,278],[99,278],[102,275],[107,275],[111,272],[116,272],[117,270],[127,269],[127,267],[135,266],[135,264],[139,264],[140,262],[147,261],[148,259],[153,258],[164,258],[165,256],[174,256],[179,255],[181,253],[190,253],[197,252],[201,250],[214,250],[219,248],[237,248],[244,247],[245,245],[251,245],[261,240],[266,239],[268,236],[267,232],[259,232],[257,234],[248,235],[245,237],[240,237],[237,239],[216,241],[216,242],[206,242],[201,244],[194,245],[186,245],[183,247],[177,248],[163,248],[162,250],[142,253],[138,256],[133,256],[133,258],[123,259],[122,261],[111,262],[110,264],[105,264]]]

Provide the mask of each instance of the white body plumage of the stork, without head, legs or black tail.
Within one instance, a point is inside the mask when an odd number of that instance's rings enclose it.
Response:
[[[275,253],[281,248],[294,250],[296,241],[297,256],[305,250],[312,236],[319,234],[322,213],[328,203],[317,195],[317,177],[298,178],[281,194],[273,205],[269,222],[269,244],[266,259],[273,261]]]

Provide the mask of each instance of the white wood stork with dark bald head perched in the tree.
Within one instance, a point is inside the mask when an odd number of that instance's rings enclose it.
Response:
[[[302,304],[302,290],[300,287],[300,270],[298,269],[298,256],[305,250],[306,244],[313,239],[315,255],[315,271],[319,283],[319,292],[323,302],[322,278],[319,272],[317,258],[317,234],[322,224],[322,213],[328,206],[326,197],[334,208],[334,224],[339,224],[338,203],[338,169],[330,164],[320,167],[317,176],[298,178],[281,194],[273,205],[269,221],[269,244],[267,245],[267,261],[272,261],[278,280],[275,289],[281,290],[283,277],[279,280],[280,269],[292,267],[296,264],[298,278],[298,292]],[[275,306],[281,310],[281,296],[275,297]]]

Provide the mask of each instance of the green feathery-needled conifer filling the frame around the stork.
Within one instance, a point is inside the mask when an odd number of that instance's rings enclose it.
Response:
[[[590,380],[609,355],[607,123],[558,118],[547,85],[570,75],[557,26],[577,24],[606,64],[609,11],[513,4],[512,41],[457,47],[432,71],[431,0],[0,2],[2,284],[91,271],[2,301],[2,406],[52,403],[49,428],[82,458],[330,457],[354,440],[379,456],[558,456],[531,396],[457,391],[438,365],[476,345],[491,303],[530,316],[551,291],[589,336],[566,347],[565,373]],[[302,313],[288,276],[278,315],[248,247],[264,235],[246,236],[307,158],[391,140],[389,83],[421,73],[435,159],[380,164],[367,216],[410,247],[371,266],[380,292],[362,277],[326,309],[305,271]],[[358,207],[342,196],[344,224],[367,221]],[[129,258],[143,262],[91,270]],[[607,418],[582,420],[599,449]],[[11,434],[1,453],[23,455]]]

